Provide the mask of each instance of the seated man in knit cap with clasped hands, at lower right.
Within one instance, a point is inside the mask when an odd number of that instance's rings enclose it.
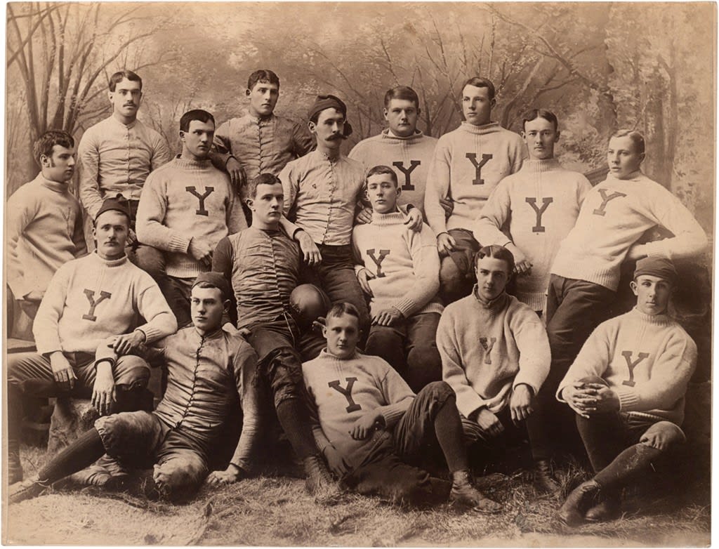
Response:
[[[600,324],[559,384],[595,472],[559,509],[569,526],[618,517],[623,487],[685,440],[679,426],[697,346],[667,314],[676,282],[668,259],[640,259],[636,308]]]

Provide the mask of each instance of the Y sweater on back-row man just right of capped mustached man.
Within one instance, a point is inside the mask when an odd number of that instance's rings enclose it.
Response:
[[[400,137],[388,128],[354,145],[348,156],[362,162],[367,170],[379,165],[395,170],[402,190],[398,204],[412,204],[424,214],[427,174],[436,144],[435,137],[419,130],[408,137]]]

